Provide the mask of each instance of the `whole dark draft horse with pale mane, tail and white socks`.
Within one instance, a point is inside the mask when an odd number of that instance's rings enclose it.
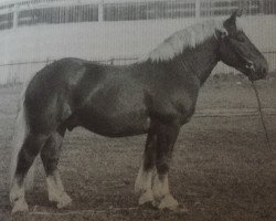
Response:
[[[176,32],[147,57],[127,66],[62,59],[39,71],[25,87],[15,122],[10,201],[26,211],[24,179],[40,154],[49,200],[71,198],[57,170],[65,131],[81,126],[108,137],[147,134],[135,189],[139,204],[179,210],[168,172],[180,127],[194,113],[201,85],[217,62],[251,81],[264,78],[267,62],[237,24],[237,10]]]

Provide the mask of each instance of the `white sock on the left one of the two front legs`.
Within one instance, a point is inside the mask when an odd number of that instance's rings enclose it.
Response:
[[[153,193],[151,189],[152,173],[152,170],[145,171],[142,166],[139,169],[135,182],[135,191],[137,193],[140,193],[139,204],[145,204],[146,202],[153,201]]]

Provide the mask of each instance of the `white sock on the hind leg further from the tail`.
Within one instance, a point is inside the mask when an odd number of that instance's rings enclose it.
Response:
[[[56,202],[57,208],[64,208],[71,204],[72,199],[64,191],[64,187],[62,185],[61,176],[59,171],[54,171],[52,176],[46,178],[47,191],[49,191],[49,200]]]

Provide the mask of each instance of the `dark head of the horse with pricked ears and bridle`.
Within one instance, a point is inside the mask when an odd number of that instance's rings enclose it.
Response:
[[[225,31],[217,31],[220,60],[244,73],[251,81],[264,78],[268,71],[267,62],[243,30],[236,25],[236,17],[241,15],[241,10],[235,11],[224,21]]]

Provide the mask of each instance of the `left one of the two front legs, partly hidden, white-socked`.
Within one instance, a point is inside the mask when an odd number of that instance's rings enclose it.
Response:
[[[144,151],[144,160],[140,166],[138,176],[135,182],[135,191],[140,194],[139,204],[145,204],[153,202],[153,193],[151,189],[152,175],[155,171],[156,160],[156,134],[151,127]]]

